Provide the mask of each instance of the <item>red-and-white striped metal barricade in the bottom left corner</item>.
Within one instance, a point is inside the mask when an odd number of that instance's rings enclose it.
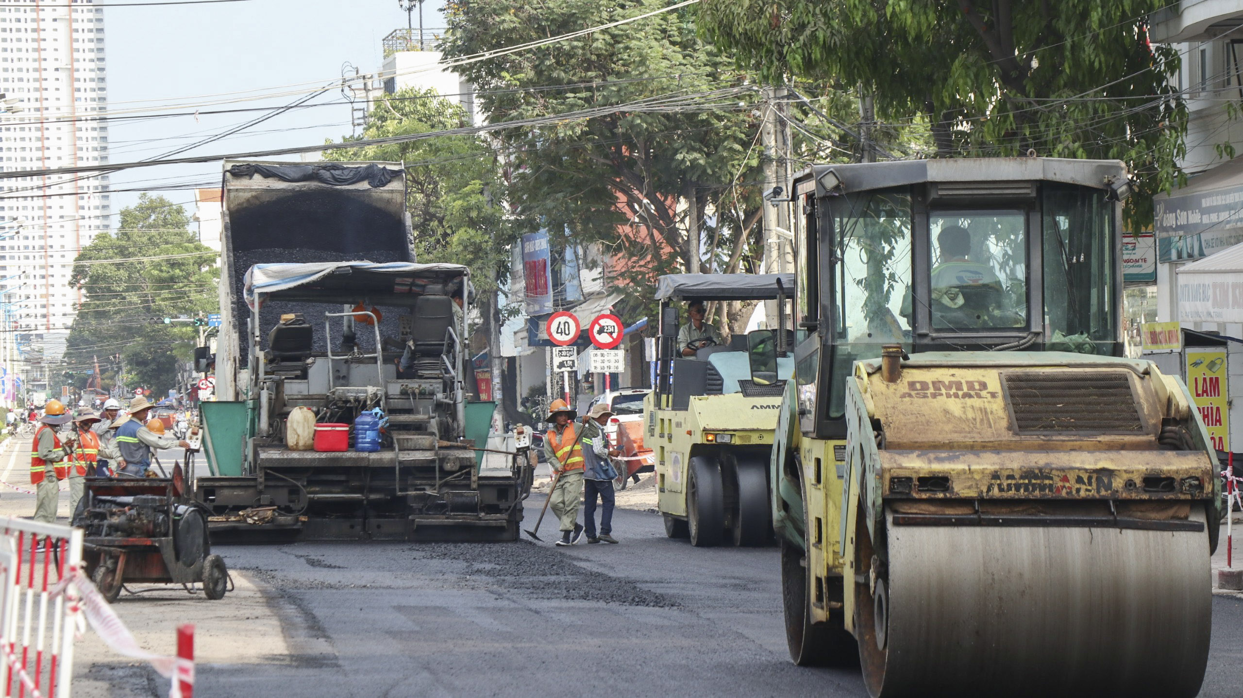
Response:
[[[0,516],[0,673],[4,694],[68,698],[82,531]],[[52,593],[61,586],[62,593]]]

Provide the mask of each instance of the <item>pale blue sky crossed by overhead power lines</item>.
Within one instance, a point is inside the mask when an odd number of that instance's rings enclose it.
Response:
[[[109,0],[99,0],[107,4]],[[116,1],[116,0],[113,0]],[[424,7],[424,26],[441,27],[439,1]],[[145,112],[155,106],[199,103],[198,109],[276,107],[339,78],[346,62],[363,72],[379,68],[380,40],[405,27],[406,14],[398,0],[247,0],[204,5],[108,7],[108,108]],[[418,11],[414,15],[418,26]],[[298,85],[296,85],[298,83]],[[310,83],[310,85],[301,85]],[[280,97],[208,106],[242,95],[201,97],[291,85]],[[342,102],[339,88],[314,102]],[[195,111],[194,106],[168,109]],[[224,131],[264,112],[199,114],[113,121],[109,123],[109,162],[132,162],[159,156],[198,138]],[[322,143],[351,133],[349,107],[323,106],[287,112],[239,133],[186,152],[215,154]],[[193,138],[190,136],[194,136]],[[218,163],[139,168],[112,175],[113,189],[165,184],[219,184]],[[158,180],[158,182],[153,182]],[[157,192],[158,193],[158,192]],[[163,192],[173,202],[191,202],[194,193]],[[133,204],[137,192],[112,197],[113,212]],[[193,204],[186,207],[193,213]],[[113,216],[116,226],[116,215]]]

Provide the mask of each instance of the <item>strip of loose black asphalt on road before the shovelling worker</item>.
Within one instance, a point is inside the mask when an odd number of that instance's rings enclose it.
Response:
[[[549,530],[556,535],[556,530]],[[584,544],[585,545],[585,544]],[[576,565],[566,549],[536,545],[530,541],[506,544],[456,544],[433,542],[414,549],[415,560],[452,560],[470,565],[470,582],[480,584],[480,577],[490,580],[506,592],[530,592],[547,598],[554,590],[558,598],[619,603],[623,606],[672,607],[677,606],[654,591],[648,591],[630,580],[612,577],[603,572]]]

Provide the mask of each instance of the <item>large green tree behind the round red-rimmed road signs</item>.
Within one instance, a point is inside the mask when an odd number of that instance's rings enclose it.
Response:
[[[633,17],[663,0],[450,1],[449,58]],[[604,243],[623,279],[650,295],[656,274],[723,270],[759,218],[758,92],[732,58],[699,39],[691,10],[469,63],[490,123],[582,109],[590,118],[495,131],[523,231],[554,246]],[[610,107],[623,107],[610,111]],[[631,225],[634,234],[619,235]]]

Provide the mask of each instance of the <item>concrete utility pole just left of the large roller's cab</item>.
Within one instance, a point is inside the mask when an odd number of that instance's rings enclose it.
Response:
[[[794,271],[794,240],[791,230],[789,185],[792,136],[789,129],[788,91],[784,87],[764,88],[764,119],[759,139],[764,148],[764,185],[761,220],[763,225],[764,256],[761,270],[764,274],[789,274]],[[778,189],[779,187],[779,189]],[[793,294],[793,290],[791,290]],[[768,327],[776,328],[777,301],[764,301]]]

